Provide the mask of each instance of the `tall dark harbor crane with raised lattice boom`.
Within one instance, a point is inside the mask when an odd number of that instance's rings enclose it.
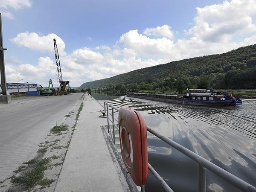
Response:
[[[54,44],[55,60],[56,60],[57,72],[58,72],[58,81],[60,83],[60,92],[61,94],[67,95],[67,86],[69,86],[70,81],[63,81],[62,79],[61,63],[60,63],[60,58],[58,54],[56,39],[53,39],[53,44]]]

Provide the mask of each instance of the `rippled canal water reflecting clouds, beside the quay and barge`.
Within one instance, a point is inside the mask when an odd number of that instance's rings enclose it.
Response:
[[[95,96],[117,108],[143,114],[148,127],[256,186],[256,99],[240,106],[202,107],[135,99]],[[148,132],[148,161],[175,192],[196,192],[198,164]],[[164,191],[151,173],[147,192]],[[207,171],[207,191],[240,191]]]

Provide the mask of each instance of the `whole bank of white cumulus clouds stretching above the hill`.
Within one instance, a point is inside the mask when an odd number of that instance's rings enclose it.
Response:
[[[146,28],[143,33],[131,30],[117,39],[112,47],[82,47],[66,54],[64,41],[55,34],[40,36],[34,32],[18,34],[11,41],[31,50],[53,53],[52,39],[57,39],[63,78],[72,86],[108,78],[144,67],[196,56],[218,54],[256,43],[256,35],[237,41],[236,35],[256,32],[251,15],[256,12],[254,0],[224,1],[222,4],[196,8],[195,25],[184,38],[174,39],[168,25]],[[57,86],[54,58],[40,57],[37,64],[6,63],[6,78],[43,84],[49,78]],[[35,78],[36,77],[36,78]]]

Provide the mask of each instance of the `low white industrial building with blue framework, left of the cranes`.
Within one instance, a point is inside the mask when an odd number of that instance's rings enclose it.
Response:
[[[6,83],[7,94],[10,95],[26,95],[26,96],[40,96],[38,84],[25,83]]]

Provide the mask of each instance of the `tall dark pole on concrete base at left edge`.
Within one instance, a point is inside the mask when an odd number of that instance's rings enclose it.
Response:
[[[2,15],[0,13],[0,76],[1,76],[1,89],[2,96],[0,97],[0,103],[10,103],[12,102],[12,97],[7,95],[6,90],[6,76],[5,76],[5,67],[4,67],[4,56],[3,51],[7,49],[3,48],[3,33],[2,33]]]

